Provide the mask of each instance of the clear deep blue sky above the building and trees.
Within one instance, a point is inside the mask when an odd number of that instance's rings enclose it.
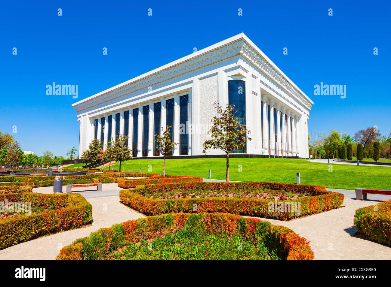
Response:
[[[315,102],[310,130],[391,131],[385,1],[83,2],[0,4],[0,130],[16,126],[23,150],[65,157],[79,144],[72,103],[242,31]],[[78,84],[79,98],[47,96],[52,82]],[[346,98],[314,96],[320,82],[345,84]]]

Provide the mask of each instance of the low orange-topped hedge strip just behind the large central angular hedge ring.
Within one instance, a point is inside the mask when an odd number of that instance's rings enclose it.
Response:
[[[140,179],[126,179],[118,178],[118,187],[121,188],[135,188],[137,185],[145,184],[170,184],[176,182],[202,182],[202,177],[197,176],[182,176],[182,175],[166,175],[164,176],[152,176],[151,178]]]

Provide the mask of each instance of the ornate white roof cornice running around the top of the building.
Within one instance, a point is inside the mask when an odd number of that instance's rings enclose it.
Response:
[[[287,91],[293,98],[310,109],[313,102],[305,95],[251,40],[243,33],[221,41],[215,45],[199,50],[197,53],[171,62],[165,66],[114,86],[72,106],[76,112],[81,112],[94,105],[109,102],[135,91],[154,86],[171,78],[178,77],[190,71],[214,64],[224,59],[242,55],[253,63],[262,73],[271,78],[278,86]]]

